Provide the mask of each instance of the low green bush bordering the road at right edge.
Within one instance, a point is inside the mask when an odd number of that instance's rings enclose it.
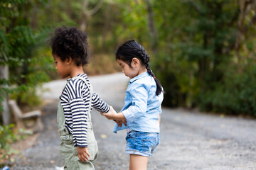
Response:
[[[230,67],[223,83],[201,97],[203,111],[215,111],[233,115],[256,116],[256,64]]]

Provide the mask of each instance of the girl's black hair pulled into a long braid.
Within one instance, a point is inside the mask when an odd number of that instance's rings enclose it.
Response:
[[[156,96],[161,94],[161,91],[163,91],[161,83],[158,79],[156,79],[154,73],[149,67],[149,55],[146,54],[146,50],[144,47],[142,47],[142,45],[135,40],[129,40],[124,42],[124,44],[117,49],[116,60],[122,60],[126,62],[129,67],[131,67],[133,58],[139,59],[146,67],[149,75],[151,75],[151,77],[154,78],[154,81],[156,81]]]

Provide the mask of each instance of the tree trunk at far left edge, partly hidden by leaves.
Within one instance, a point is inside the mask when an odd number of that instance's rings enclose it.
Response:
[[[8,80],[9,77],[9,67],[8,65],[1,65],[0,66],[0,79]],[[8,105],[8,96],[4,96],[4,100],[1,102],[1,106],[3,107],[4,111],[2,112],[2,119],[4,125],[9,125],[11,123],[11,114]]]

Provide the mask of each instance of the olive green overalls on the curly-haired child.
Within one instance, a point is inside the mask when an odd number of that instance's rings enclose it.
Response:
[[[60,135],[60,156],[64,160],[64,169],[79,170],[79,169],[95,169],[93,164],[98,156],[98,147],[95,140],[95,135],[92,130],[92,122],[90,119],[90,111],[87,118],[87,149],[90,154],[87,162],[82,162],[78,158],[78,149],[74,147],[72,134],[65,127],[65,117],[63,107],[58,104],[57,122],[58,132]]]

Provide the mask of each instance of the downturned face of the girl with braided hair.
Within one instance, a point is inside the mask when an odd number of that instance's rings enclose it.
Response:
[[[139,69],[137,69],[137,67],[133,67],[133,63],[131,64],[131,67],[129,67],[129,65],[122,60],[117,59],[117,63],[120,67],[122,67],[122,72],[125,74],[125,76],[129,77],[130,79],[137,77],[139,74]]]

